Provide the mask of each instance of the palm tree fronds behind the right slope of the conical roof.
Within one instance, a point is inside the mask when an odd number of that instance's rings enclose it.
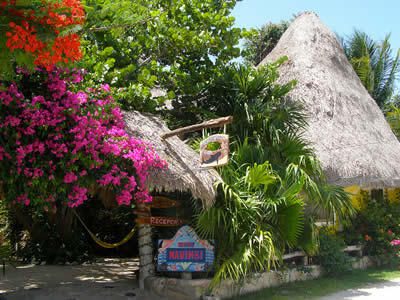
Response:
[[[341,39],[347,58],[381,108],[390,101],[400,71],[400,49],[393,57],[389,38],[387,34],[375,42],[365,32],[355,30],[347,40]]]

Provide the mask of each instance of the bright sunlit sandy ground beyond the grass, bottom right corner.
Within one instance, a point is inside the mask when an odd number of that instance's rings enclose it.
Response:
[[[349,289],[318,300],[399,300],[400,278],[370,284],[359,289]]]

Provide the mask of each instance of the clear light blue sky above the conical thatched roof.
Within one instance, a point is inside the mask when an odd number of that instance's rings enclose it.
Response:
[[[358,29],[380,41],[391,33],[393,55],[400,48],[400,0],[243,0],[232,15],[237,27],[249,29],[290,20],[303,11],[317,13],[340,36]]]

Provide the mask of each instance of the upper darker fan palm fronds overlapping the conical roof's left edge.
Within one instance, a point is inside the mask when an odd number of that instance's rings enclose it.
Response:
[[[237,150],[240,164],[268,160],[285,180],[304,178],[309,201],[341,219],[354,212],[348,195],[326,183],[320,162],[302,134],[307,116],[302,106],[287,97],[295,81],[278,85],[278,67],[286,58],[261,68],[233,65],[210,87],[199,107],[215,115],[233,115],[228,127],[231,139],[243,143]]]

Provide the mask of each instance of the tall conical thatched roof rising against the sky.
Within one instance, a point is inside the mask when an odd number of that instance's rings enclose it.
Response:
[[[296,79],[290,92],[309,114],[305,137],[335,185],[400,186],[400,144],[362,85],[335,34],[316,14],[299,16],[260,63],[289,60],[281,82]]]

